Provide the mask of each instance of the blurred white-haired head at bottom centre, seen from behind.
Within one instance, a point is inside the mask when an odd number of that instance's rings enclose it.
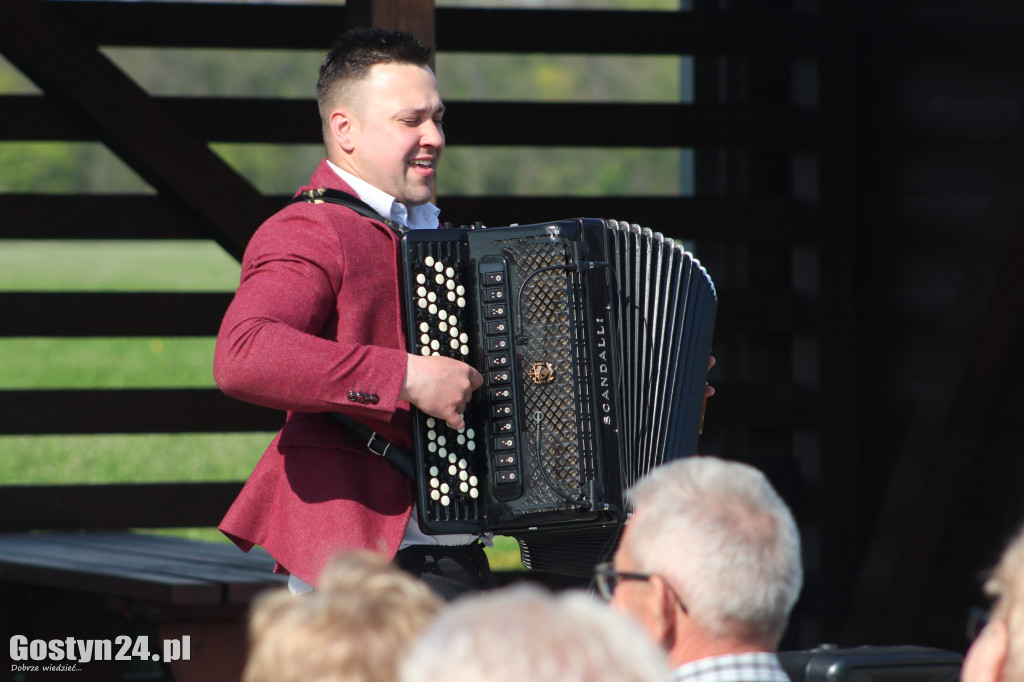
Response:
[[[583,592],[511,587],[461,597],[403,660],[401,682],[667,681],[664,652]]]

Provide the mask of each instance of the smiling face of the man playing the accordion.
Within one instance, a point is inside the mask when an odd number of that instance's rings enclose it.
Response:
[[[332,161],[407,206],[430,201],[444,148],[444,104],[433,73],[379,63],[351,93],[348,106],[332,115],[331,129],[342,148]]]

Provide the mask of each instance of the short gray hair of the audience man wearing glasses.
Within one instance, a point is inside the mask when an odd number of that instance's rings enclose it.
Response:
[[[627,493],[628,546],[710,633],[777,646],[803,585],[800,534],[758,469],[690,457],[654,469]]]

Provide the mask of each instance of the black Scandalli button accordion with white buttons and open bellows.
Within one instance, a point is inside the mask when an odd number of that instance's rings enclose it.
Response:
[[[484,378],[460,431],[413,410],[421,527],[589,576],[624,492],[696,453],[714,284],[680,244],[602,219],[411,230],[402,259],[409,351]]]

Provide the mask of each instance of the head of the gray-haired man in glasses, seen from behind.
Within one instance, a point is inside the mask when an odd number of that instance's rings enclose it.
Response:
[[[674,666],[774,650],[803,568],[796,521],[764,474],[690,457],[654,469],[627,496],[635,511],[613,569],[635,580],[616,581],[612,603],[644,625]]]

